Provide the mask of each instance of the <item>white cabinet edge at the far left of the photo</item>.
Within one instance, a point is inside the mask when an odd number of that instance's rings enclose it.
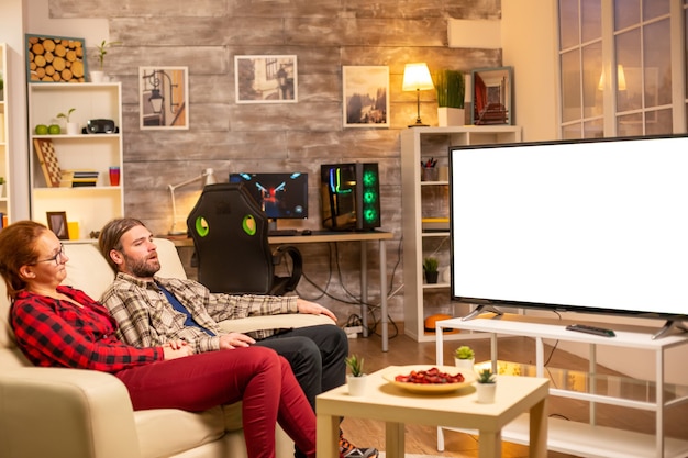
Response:
[[[0,177],[2,177],[3,183],[0,185],[0,227],[11,222],[11,205],[10,205],[10,156],[11,156],[11,143],[10,143],[10,105],[8,103],[8,94],[10,92],[9,87],[9,68],[8,68],[8,47],[4,43],[0,43]]]

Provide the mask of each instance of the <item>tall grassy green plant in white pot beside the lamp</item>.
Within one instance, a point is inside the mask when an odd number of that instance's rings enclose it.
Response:
[[[466,113],[464,99],[466,80],[458,70],[440,70],[433,75],[433,83],[437,93],[437,124],[440,126],[464,125]]]

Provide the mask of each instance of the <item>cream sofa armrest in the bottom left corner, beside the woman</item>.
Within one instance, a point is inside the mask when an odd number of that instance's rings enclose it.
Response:
[[[0,372],[0,456],[137,458],[124,384],[93,370],[26,367]]]

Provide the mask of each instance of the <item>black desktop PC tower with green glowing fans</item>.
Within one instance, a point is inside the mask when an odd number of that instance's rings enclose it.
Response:
[[[380,176],[377,163],[320,166],[320,201],[325,231],[380,227]]]

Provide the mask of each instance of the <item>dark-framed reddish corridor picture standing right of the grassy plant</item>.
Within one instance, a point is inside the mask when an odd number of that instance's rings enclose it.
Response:
[[[511,109],[513,97],[512,74],[512,67],[473,70],[473,124],[511,125],[513,123]]]

